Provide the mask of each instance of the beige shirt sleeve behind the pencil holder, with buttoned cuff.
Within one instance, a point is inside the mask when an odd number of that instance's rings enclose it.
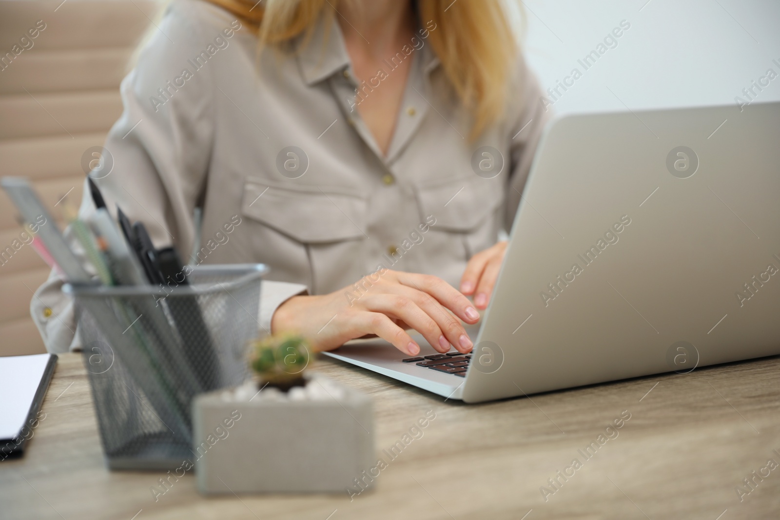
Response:
[[[190,64],[193,50],[209,43],[197,16],[185,2],[168,7],[135,69],[122,80],[124,111],[106,138],[103,172],[93,175],[112,215],[120,207],[130,221],[143,222],[154,246],[172,245],[183,260],[195,240],[193,209],[204,200],[214,139],[213,67]],[[86,182],[83,193],[80,217],[87,218],[95,208]],[[48,352],[80,347],[73,301],[62,293],[63,283],[52,271],[30,302]],[[276,308],[305,291],[303,285],[263,281],[261,327],[270,331]]]

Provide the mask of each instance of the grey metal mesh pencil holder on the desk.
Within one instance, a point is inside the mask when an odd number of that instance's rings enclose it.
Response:
[[[194,267],[189,285],[65,285],[110,469],[176,469],[191,457],[190,405],[249,376],[262,264]]]

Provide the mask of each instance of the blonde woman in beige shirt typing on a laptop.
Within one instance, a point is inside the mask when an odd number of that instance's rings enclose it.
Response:
[[[202,207],[191,262],[268,264],[266,330],[469,352],[546,118],[502,5],[175,0],[97,184],[155,246],[186,258]],[[61,285],[31,306],[53,352],[78,345]]]

